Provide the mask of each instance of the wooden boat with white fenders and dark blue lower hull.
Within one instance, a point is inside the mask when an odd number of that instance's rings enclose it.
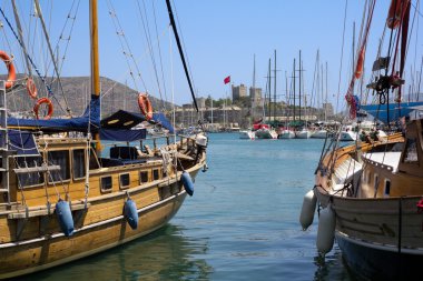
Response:
[[[410,1],[400,2],[410,8]],[[391,92],[393,81],[381,91]],[[386,124],[399,117],[395,110],[387,114],[390,106],[375,104],[380,109],[375,117]],[[393,106],[403,117],[412,111],[412,104]],[[331,251],[335,238],[348,267],[364,279],[413,280],[421,272],[423,120],[405,126],[403,132],[347,147],[338,147],[336,136],[325,144],[315,187],[304,198],[303,228],[313,222],[316,200],[319,205],[317,250]]]

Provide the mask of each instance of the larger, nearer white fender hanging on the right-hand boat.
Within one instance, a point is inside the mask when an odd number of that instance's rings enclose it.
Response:
[[[335,212],[332,210],[332,205],[327,204],[327,207],[321,211],[321,215],[318,217],[316,240],[318,252],[325,254],[332,250],[335,239]]]

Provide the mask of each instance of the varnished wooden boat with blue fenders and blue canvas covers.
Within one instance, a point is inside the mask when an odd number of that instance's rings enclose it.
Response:
[[[97,1],[90,10],[94,94],[82,117],[7,118],[6,88],[12,81],[0,82],[0,279],[78,260],[161,228],[193,194],[191,179],[206,165],[203,133],[174,143],[167,137],[160,148],[155,139],[149,148],[142,143],[145,129],[130,130],[156,118],[164,124],[156,112],[118,111],[100,121]],[[102,155],[105,133],[134,138]],[[140,148],[131,145],[135,140]]]

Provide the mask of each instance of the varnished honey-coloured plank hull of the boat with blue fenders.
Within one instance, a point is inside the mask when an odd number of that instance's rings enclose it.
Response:
[[[193,178],[199,168],[200,165],[196,165],[189,170]],[[0,279],[28,274],[78,260],[161,228],[177,213],[187,194],[181,183],[175,179],[170,180],[168,184],[164,183],[131,194],[131,199],[140,203],[138,204],[140,208],[137,209],[139,218],[136,230],[129,227],[122,215],[126,197],[120,195],[91,202],[82,215],[80,228],[77,227],[78,222],[73,218],[77,228],[71,237],[56,232],[0,244]],[[167,189],[166,198],[153,202],[154,198],[160,197],[160,192],[163,195],[163,189]],[[140,200],[145,200],[145,203]],[[50,215],[56,217],[56,213]],[[8,221],[7,217],[2,217],[0,224],[4,229],[6,221],[12,235],[18,227],[11,227],[13,222]],[[50,219],[47,229],[57,228],[56,218]],[[39,229],[41,229],[41,219],[30,218],[21,235],[24,237],[26,231],[33,233],[33,230],[37,230],[38,232]]]

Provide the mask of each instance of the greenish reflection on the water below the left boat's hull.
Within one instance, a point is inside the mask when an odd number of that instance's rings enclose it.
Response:
[[[207,240],[183,232],[183,227],[167,224],[122,247],[20,280],[209,280],[213,268],[196,258],[207,253]]]

